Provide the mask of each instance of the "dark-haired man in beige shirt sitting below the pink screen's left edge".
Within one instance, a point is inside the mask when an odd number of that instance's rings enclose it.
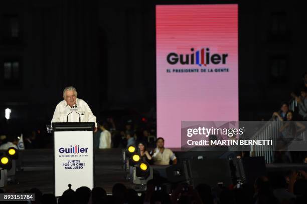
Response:
[[[154,150],[154,155],[152,155],[155,165],[169,165],[170,161],[173,164],[177,163],[177,158],[171,149],[164,147],[164,138],[157,138],[157,148]]]

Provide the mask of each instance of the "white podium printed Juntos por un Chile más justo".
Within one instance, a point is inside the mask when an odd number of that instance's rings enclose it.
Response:
[[[54,193],[61,196],[71,184],[94,187],[94,122],[52,123]]]

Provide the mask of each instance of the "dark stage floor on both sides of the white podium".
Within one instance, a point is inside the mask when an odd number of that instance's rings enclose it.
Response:
[[[124,179],[121,151],[121,149],[103,149],[95,152],[95,186],[103,187],[107,193],[112,192],[112,186],[117,182],[124,183],[127,187],[131,186]],[[8,184],[6,190],[24,191],[36,187],[43,193],[53,193],[52,149],[23,151],[22,168],[23,171],[16,172],[16,179],[20,184]]]

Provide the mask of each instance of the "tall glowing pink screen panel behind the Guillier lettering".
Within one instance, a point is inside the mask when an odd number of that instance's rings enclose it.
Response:
[[[166,147],[181,147],[181,121],[238,120],[238,6],[158,5],[157,136]],[[169,53],[191,48],[227,53],[218,65],[171,65]],[[194,52],[195,53],[195,52]],[[167,73],[167,69],[228,68],[229,72]]]

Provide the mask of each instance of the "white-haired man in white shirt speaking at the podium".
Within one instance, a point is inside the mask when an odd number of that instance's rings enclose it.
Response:
[[[95,122],[95,132],[97,131],[96,116],[85,101],[77,98],[77,90],[66,87],[63,91],[64,100],[61,101],[53,114],[51,123],[54,122]]]

